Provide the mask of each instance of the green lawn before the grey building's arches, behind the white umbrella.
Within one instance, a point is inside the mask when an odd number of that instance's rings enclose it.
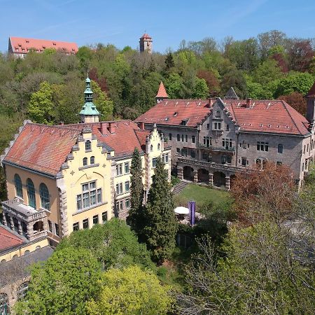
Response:
[[[196,184],[189,184],[181,191],[181,193],[179,193],[179,195],[174,196],[176,207],[187,207],[189,200],[195,200],[197,210],[200,210],[204,204],[209,204],[209,202],[221,204],[229,199],[230,193],[226,190],[217,190]]]

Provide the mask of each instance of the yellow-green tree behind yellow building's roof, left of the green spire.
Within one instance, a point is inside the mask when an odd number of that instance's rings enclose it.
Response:
[[[52,124],[55,120],[55,106],[52,102],[52,87],[44,81],[39,90],[31,94],[29,116],[34,123]]]

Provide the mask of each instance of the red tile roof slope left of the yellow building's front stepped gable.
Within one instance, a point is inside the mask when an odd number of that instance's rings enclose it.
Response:
[[[76,144],[80,130],[27,123],[3,162],[55,176]]]

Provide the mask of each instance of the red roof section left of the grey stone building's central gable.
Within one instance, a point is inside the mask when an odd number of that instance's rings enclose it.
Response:
[[[157,125],[181,125],[183,120],[187,120],[187,127],[197,127],[209,113],[208,100],[165,99],[134,121]]]

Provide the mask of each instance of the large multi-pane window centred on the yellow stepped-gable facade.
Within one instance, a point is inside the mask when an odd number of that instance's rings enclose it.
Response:
[[[102,188],[97,189],[96,181],[84,183],[82,185],[82,192],[82,194],[76,196],[77,210],[86,209],[102,203]]]

